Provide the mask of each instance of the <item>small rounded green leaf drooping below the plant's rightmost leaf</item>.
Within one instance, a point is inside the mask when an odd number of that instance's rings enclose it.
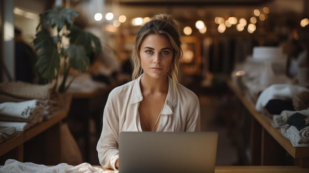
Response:
[[[89,66],[89,58],[86,55],[85,49],[82,45],[70,44],[68,48],[70,67],[83,72]]]

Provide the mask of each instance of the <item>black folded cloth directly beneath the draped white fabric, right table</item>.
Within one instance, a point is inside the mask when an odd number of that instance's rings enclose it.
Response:
[[[292,100],[272,99],[264,107],[272,115],[279,115],[283,110],[295,110]]]

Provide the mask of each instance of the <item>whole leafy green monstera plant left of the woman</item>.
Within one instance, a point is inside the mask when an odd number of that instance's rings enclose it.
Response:
[[[66,92],[73,82],[74,77],[67,82],[71,69],[84,72],[89,66],[89,56],[102,52],[97,36],[73,25],[78,15],[76,10],[58,5],[39,15],[34,39],[38,57],[35,67],[44,83],[56,81],[58,86],[59,75],[63,75],[59,93]]]

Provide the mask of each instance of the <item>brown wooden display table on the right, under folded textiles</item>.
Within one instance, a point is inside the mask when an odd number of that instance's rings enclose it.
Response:
[[[252,115],[251,122],[251,165],[281,165],[284,153],[281,148],[294,158],[294,165],[309,167],[309,147],[294,147],[292,143],[281,135],[279,128],[271,125],[272,119],[255,109],[243,91],[235,86],[231,79],[226,83],[233,94]]]

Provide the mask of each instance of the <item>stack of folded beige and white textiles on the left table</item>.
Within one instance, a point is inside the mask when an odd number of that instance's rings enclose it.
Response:
[[[63,103],[52,95],[52,87],[22,81],[0,83],[0,142],[54,116]]]

